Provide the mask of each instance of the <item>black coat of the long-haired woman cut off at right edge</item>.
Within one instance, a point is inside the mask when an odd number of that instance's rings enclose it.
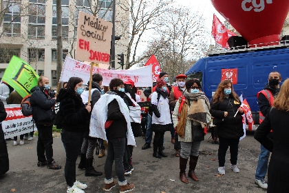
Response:
[[[289,112],[272,108],[255,131],[255,139],[272,152],[268,167],[268,193],[288,192],[289,179]],[[274,141],[268,134],[272,129]]]

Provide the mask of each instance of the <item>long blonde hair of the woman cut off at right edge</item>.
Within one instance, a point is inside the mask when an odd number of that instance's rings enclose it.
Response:
[[[283,82],[273,106],[277,110],[289,111],[289,79]]]

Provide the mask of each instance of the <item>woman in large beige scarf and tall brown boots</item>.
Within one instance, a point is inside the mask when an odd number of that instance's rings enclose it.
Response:
[[[184,96],[175,104],[173,111],[173,125],[178,133],[181,143],[180,150],[180,180],[189,183],[186,178],[186,164],[189,161],[188,176],[194,181],[199,181],[195,175],[195,167],[199,158],[201,141],[193,141],[192,126],[202,126],[204,129],[211,121],[210,103],[201,91],[201,83],[197,79],[186,81]],[[193,124],[193,125],[192,125]]]

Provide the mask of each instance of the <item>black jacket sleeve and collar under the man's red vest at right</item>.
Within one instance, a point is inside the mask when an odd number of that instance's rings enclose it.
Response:
[[[270,85],[266,85],[264,90],[268,90],[269,92],[272,93],[274,98],[276,98],[280,89],[279,88],[271,88]],[[261,113],[264,116],[266,116],[266,114],[268,113],[268,111],[270,109],[270,103],[269,103],[268,99],[266,98],[266,96],[264,96],[264,94],[260,93],[257,101],[258,101],[258,105],[259,105],[259,109],[260,109]]]

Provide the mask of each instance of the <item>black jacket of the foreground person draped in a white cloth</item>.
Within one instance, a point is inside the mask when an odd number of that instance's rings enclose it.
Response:
[[[113,92],[109,91],[107,94],[124,96],[123,93],[117,90],[113,90]],[[108,140],[127,136],[127,121],[125,120],[125,116],[123,116],[122,112],[120,112],[120,106],[118,105],[118,101],[116,101],[116,99],[109,103],[107,121],[114,121],[111,123],[110,127],[105,130]]]

